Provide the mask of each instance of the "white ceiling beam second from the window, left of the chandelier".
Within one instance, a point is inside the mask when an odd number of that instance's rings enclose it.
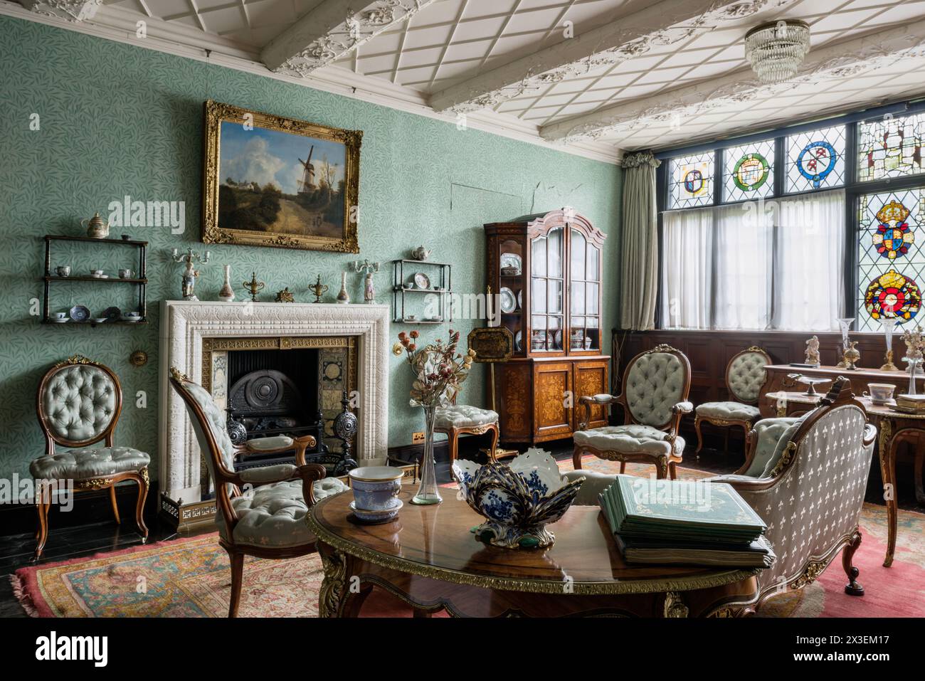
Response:
[[[723,21],[780,9],[796,0],[661,0],[591,31],[574,31],[560,43],[515,59],[433,93],[435,111],[468,113],[520,94],[645,55],[654,45],[678,43]],[[562,31],[564,26],[553,27]]]

